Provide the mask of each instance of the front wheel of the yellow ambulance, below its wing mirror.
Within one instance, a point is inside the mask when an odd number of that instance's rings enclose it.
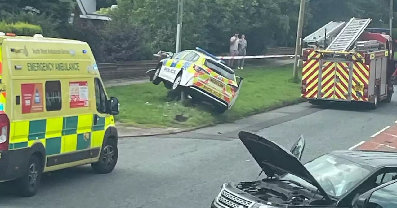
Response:
[[[94,172],[98,174],[111,173],[117,164],[118,149],[117,142],[114,139],[108,139],[106,144],[103,146],[99,156],[99,161],[92,163],[91,167]]]

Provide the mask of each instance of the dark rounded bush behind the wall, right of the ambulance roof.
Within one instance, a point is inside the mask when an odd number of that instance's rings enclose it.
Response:
[[[127,21],[79,19],[68,31],[62,38],[87,42],[98,63],[150,59],[153,54],[143,29]]]

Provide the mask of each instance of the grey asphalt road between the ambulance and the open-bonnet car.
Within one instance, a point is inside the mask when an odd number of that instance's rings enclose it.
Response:
[[[260,169],[236,138],[257,132],[290,147],[302,134],[304,161],[326,151],[347,149],[370,139],[397,119],[397,95],[373,111],[359,106],[322,109],[308,103],[285,107],[235,124],[163,137],[125,138],[112,174],[90,166],[45,176],[37,196],[18,198],[2,186],[1,208],[209,208],[226,181],[256,179]]]

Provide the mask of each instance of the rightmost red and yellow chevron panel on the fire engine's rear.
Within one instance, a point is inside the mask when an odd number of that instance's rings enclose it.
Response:
[[[370,78],[370,66],[365,65],[361,62],[353,63],[353,82],[352,82],[352,100],[355,101],[368,101],[368,97],[359,96],[357,92],[364,95],[363,91],[355,91],[354,87],[360,83],[360,85],[368,84]]]

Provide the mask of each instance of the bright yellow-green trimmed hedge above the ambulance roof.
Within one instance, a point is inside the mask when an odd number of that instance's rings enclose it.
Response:
[[[24,22],[6,23],[0,22],[0,32],[14,33],[16,35],[33,36],[34,34],[41,34],[42,29],[39,25],[32,25]]]

